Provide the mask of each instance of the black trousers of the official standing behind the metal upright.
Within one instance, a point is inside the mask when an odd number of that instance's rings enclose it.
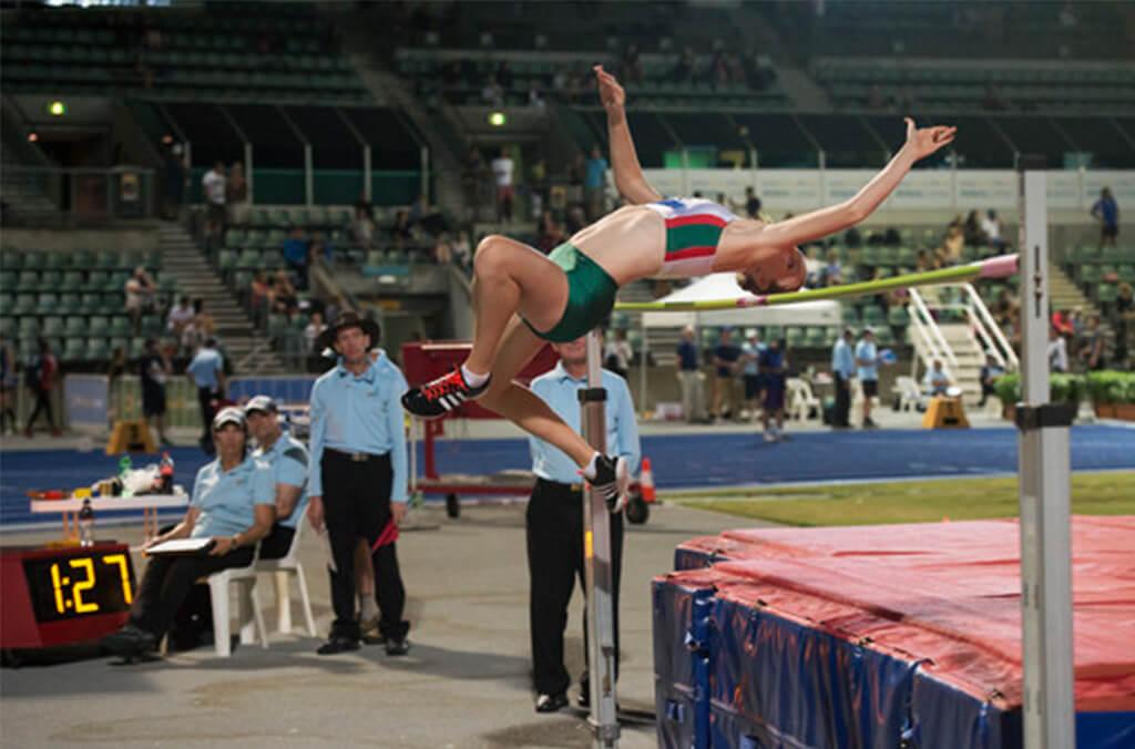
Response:
[[[532,638],[536,691],[554,695],[568,689],[564,629],[568,604],[579,578],[587,590],[583,566],[583,493],[571,485],[537,479],[526,517],[530,594],[528,615]],[[615,626],[615,673],[619,670],[619,579],[623,569],[623,514],[611,515],[611,606]],[[587,659],[587,615],[583,616]],[[586,673],[583,679],[586,680]]]

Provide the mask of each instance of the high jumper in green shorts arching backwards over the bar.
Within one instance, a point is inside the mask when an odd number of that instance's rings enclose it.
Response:
[[[600,455],[528,388],[513,382],[545,342],[574,340],[609,314],[615,294],[640,278],[737,271],[749,292],[792,292],[805,279],[798,245],[866,219],[894,192],[910,168],[953,141],[955,127],[915,127],[907,141],[854,197],[784,221],[739,218],[700,199],[663,197],[647,184],[634,152],[614,76],[595,68],[615,186],[630,205],[575,233],[544,255],[501,235],[485,237],[473,259],[472,351],[451,373],[402,396],[405,409],[434,419],[478,399],[529,434],[562,449],[612,508],[621,506],[627,469]]]

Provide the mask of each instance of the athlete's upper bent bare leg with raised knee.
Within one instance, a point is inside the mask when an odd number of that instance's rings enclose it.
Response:
[[[566,305],[568,277],[560,266],[521,242],[496,234],[485,237],[473,258],[476,327],[465,367],[478,374],[496,374],[497,347],[515,314],[522,314],[537,330],[550,330]],[[507,382],[515,373],[502,379]]]

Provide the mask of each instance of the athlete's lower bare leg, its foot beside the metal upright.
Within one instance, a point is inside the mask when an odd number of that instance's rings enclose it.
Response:
[[[582,468],[591,461],[595,448],[564,423],[539,396],[512,381],[544,344],[543,338],[537,337],[520,318],[513,315],[493,365],[493,384],[479,403],[530,435],[552,443]]]

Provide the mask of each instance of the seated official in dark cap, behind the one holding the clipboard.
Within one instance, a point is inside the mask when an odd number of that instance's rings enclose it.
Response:
[[[308,510],[308,448],[280,427],[276,402],[258,395],[244,404],[249,431],[257,438],[252,456],[272,470],[276,523],[260,545],[260,558],[287,556],[295,529]]]

